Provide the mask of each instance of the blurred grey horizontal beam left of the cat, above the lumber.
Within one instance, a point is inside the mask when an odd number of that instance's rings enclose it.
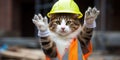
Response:
[[[0,38],[0,44],[3,43],[11,46],[18,45],[31,48],[40,48],[38,39],[36,38]]]

